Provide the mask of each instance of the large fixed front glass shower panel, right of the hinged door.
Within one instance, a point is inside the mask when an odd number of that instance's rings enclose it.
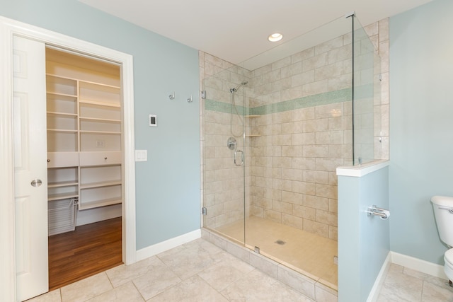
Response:
[[[337,284],[336,168],[352,164],[351,30],[338,18],[243,62],[246,246],[326,285]]]

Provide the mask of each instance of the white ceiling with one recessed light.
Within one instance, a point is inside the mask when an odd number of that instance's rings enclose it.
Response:
[[[355,12],[362,25],[432,0],[79,0],[154,33],[239,64],[276,43]]]

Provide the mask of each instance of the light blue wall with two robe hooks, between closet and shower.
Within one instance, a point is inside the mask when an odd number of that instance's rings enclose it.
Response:
[[[200,228],[197,50],[75,0],[0,0],[0,16],[133,55],[137,250]]]

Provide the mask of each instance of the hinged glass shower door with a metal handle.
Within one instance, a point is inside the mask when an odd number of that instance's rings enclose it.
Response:
[[[241,66],[219,65],[224,68],[205,66],[216,72],[203,81],[203,226],[243,244],[248,153],[244,101],[249,79]]]

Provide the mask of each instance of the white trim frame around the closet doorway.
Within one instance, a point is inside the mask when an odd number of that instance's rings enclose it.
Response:
[[[137,261],[135,225],[134,79],[133,57],[91,42],[0,16],[0,292],[16,301],[16,234],[14,213],[13,35],[121,64],[124,129],[124,202],[122,261]]]

